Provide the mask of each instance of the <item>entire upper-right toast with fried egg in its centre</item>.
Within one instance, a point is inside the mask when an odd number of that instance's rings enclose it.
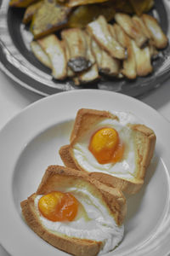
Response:
[[[130,113],[82,108],[70,144],[61,147],[59,154],[65,166],[134,194],[144,183],[155,144],[154,131]]]

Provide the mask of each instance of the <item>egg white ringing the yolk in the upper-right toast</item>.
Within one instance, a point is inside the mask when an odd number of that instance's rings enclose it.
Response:
[[[135,150],[133,143],[133,131],[127,124],[139,124],[139,120],[131,113],[115,112],[119,120],[105,119],[97,125],[90,127],[85,136],[74,144],[72,152],[79,166],[88,172],[105,172],[116,177],[132,179],[136,172]],[[89,151],[90,139],[95,131],[104,127],[114,128],[125,145],[122,160],[116,163],[99,164],[94,155]]]

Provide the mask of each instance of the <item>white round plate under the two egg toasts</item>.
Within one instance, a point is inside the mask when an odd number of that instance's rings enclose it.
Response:
[[[125,236],[107,255],[170,253],[170,124],[142,102],[104,90],[74,90],[32,104],[0,131],[0,242],[13,256],[67,255],[43,241],[23,221],[20,201],[37,190],[48,165],[62,164],[79,108],[128,111],[156,132],[156,154],[144,187],[127,201]],[[88,255],[87,255],[88,256]]]

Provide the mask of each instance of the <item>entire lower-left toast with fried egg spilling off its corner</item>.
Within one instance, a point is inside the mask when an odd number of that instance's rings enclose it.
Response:
[[[66,253],[94,256],[122,241],[125,197],[84,172],[49,166],[37,192],[20,205],[31,229]]]

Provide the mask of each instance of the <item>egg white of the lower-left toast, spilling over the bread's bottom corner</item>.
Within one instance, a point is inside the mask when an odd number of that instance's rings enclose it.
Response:
[[[62,235],[102,241],[103,248],[100,254],[113,250],[122,241],[124,226],[118,226],[108,208],[101,204],[98,198],[91,195],[87,189],[73,187],[65,192],[71,192],[81,202],[88,219],[82,215],[71,222],[50,221],[39,212],[38,201],[42,195],[37,195],[35,207],[37,208],[42,225],[49,231],[56,231]]]

